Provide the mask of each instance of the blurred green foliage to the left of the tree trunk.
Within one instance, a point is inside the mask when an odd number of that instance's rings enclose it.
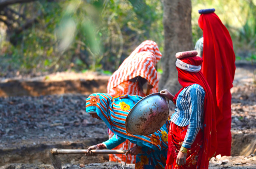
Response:
[[[32,9],[28,15],[38,11],[43,15],[38,24],[16,35],[17,44],[4,44],[7,50],[2,55],[16,63],[13,68],[23,70],[114,71],[143,40],[157,39],[162,45],[161,5],[149,0],[140,0],[140,4],[134,0],[40,0],[26,4]],[[19,6],[12,8],[18,10]]]

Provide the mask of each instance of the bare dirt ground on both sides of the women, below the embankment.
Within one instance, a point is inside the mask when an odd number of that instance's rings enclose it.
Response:
[[[232,94],[232,156],[210,168],[256,168],[256,88],[251,65],[237,65]],[[0,168],[53,168],[51,148],[86,149],[108,138],[107,126],[85,111],[88,95],[0,97]],[[244,156],[242,156],[244,155]],[[63,168],[120,168],[108,156],[60,155]],[[129,165],[126,168],[133,168]]]

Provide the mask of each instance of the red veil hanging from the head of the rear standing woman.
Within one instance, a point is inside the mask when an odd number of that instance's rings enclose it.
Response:
[[[235,72],[235,54],[232,39],[219,17],[213,13],[201,14],[198,25],[203,29],[202,72],[211,88],[213,99],[222,111],[223,95],[232,88]],[[222,119],[222,112],[217,114]]]

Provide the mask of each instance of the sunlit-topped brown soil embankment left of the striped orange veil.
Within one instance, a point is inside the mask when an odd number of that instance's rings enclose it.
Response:
[[[96,72],[58,72],[31,78],[0,78],[0,97],[107,92],[108,79],[108,75],[99,75]]]

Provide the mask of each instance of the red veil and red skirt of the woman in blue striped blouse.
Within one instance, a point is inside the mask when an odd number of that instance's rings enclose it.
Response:
[[[187,64],[191,64],[191,65],[201,65],[202,63],[202,58],[200,58],[199,56],[191,56],[191,57],[185,57],[185,58],[181,58],[181,61],[187,63]],[[191,84],[199,84],[203,87],[204,91],[205,91],[205,97],[204,97],[204,121],[203,121],[203,133],[199,131],[199,133],[196,136],[197,139],[197,143],[198,145],[200,144],[201,146],[191,146],[192,148],[190,149],[190,152],[194,158],[198,158],[197,159],[197,163],[195,165],[189,165],[189,168],[208,168],[209,165],[209,159],[215,154],[215,150],[216,150],[216,146],[217,146],[217,140],[216,140],[216,128],[215,128],[215,113],[214,113],[214,106],[213,106],[213,99],[212,99],[212,93],[210,90],[210,87],[206,81],[206,79],[204,78],[203,74],[201,71],[198,72],[189,72],[186,70],[182,70],[180,68],[178,68],[176,66],[177,70],[178,70],[178,80],[179,83],[181,84],[181,86],[183,88],[185,88],[186,86],[189,86]],[[178,94],[183,90],[183,88],[181,88],[179,90],[178,93],[175,94],[173,101],[176,103],[176,99]],[[177,143],[174,142],[174,144],[176,145],[175,148],[178,149],[179,146],[179,141],[183,141],[184,137],[182,136],[183,134],[180,133],[181,129],[177,129],[175,130],[176,126],[171,125],[172,127],[170,127],[169,132],[171,131],[172,133],[170,133],[173,138],[177,139]],[[177,127],[176,127],[177,128]],[[183,128],[185,129],[185,128]],[[177,135],[176,135],[177,134]],[[171,136],[170,136],[171,137]],[[168,139],[169,139],[169,135],[168,135]],[[171,139],[171,138],[170,138]],[[201,142],[202,139],[202,142]],[[201,143],[200,143],[201,142]],[[166,167],[165,168],[177,168],[176,166],[176,155],[177,155],[177,151],[174,151],[173,145],[171,144],[171,142],[169,142],[168,140],[168,157],[167,157],[167,161],[166,161]],[[199,148],[199,153],[197,148]],[[188,153],[187,153],[187,158],[188,158]],[[191,159],[190,164],[195,163],[196,161],[193,159]],[[183,165],[184,166],[184,165]],[[179,167],[182,168],[182,167]]]

